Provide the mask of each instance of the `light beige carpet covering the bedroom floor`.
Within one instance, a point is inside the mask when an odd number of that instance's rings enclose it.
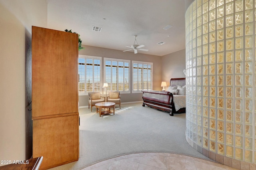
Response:
[[[158,111],[142,103],[116,106],[115,115],[99,116],[95,107],[79,109],[80,158],[52,170],[80,170],[121,155],[162,152],[210,160],[185,139],[186,114]]]

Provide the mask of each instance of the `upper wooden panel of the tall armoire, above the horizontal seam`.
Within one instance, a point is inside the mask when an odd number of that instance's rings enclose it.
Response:
[[[32,27],[32,117],[78,112],[78,35]]]

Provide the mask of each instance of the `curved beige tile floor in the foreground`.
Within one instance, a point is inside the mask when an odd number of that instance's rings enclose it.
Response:
[[[229,166],[169,153],[139,153],[104,160],[83,170],[236,170]]]

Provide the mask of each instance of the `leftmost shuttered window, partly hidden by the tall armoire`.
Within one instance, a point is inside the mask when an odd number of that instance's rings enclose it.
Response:
[[[78,57],[78,92],[86,95],[88,92],[100,92],[101,57],[79,55]]]

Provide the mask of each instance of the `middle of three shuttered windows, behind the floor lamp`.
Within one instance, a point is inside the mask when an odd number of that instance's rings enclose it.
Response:
[[[130,93],[130,61],[104,58],[104,63],[107,90]]]

